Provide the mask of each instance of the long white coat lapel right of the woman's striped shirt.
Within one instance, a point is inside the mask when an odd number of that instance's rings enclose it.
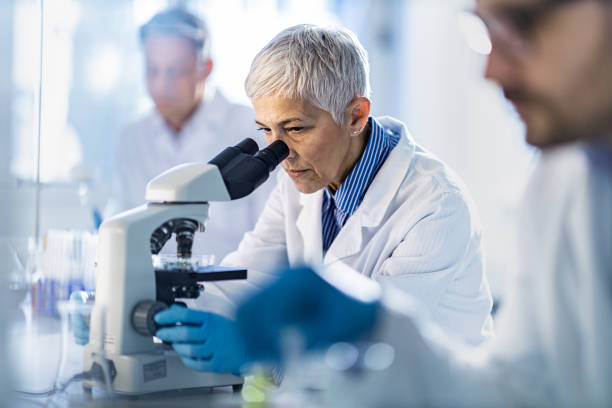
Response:
[[[387,208],[410,167],[414,151],[414,141],[406,128],[402,127],[397,146],[374,177],[357,211],[347,220],[330,246],[323,259],[324,265],[354,255],[367,244],[364,242],[363,229],[377,227],[383,222]]]

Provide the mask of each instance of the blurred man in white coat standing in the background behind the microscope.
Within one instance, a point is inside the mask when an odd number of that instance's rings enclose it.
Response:
[[[262,144],[254,113],[228,101],[209,81],[213,70],[205,22],[180,8],[161,11],[140,28],[146,83],[154,108],[126,126],[114,149],[114,193],[107,213],[144,203],[149,180],[182,163],[205,163],[246,137]],[[220,260],[255,225],[271,184],[241,200],[211,203],[194,253]],[[172,242],[174,242],[172,240]]]

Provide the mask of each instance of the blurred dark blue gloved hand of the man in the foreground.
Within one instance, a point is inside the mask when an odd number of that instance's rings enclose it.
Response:
[[[288,327],[303,335],[306,349],[353,341],[371,330],[379,308],[378,295],[371,294],[379,293],[379,287],[347,269],[332,279],[310,268],[289,269],[243,303],[236,324],[248,339],[247,360],[280,361],[279,339]],[[368,296],[362,296],[365,292]]]

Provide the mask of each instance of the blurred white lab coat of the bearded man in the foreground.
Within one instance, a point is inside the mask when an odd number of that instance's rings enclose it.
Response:
[[[543,153],[521,221],[521,270],[487,347],[457,353],[438,341],[432,349],[423,338],[440,336],[419,319],[419,306],[388,293],[375,339],[392,345],[395,361],[347,377],[352,393],[339,399],[383,407],[612,406],[612,147]]]

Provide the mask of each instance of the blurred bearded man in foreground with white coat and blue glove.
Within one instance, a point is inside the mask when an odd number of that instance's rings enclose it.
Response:
[[[271,361],[287,327],[307,348],[390,345],[387,369],[347,379],[342,398],[361,406],[612,406],[612,2],[480,0],[476,13],[493,45],[486,76],[542,153],[497,336],[458,351],[418,302],[350,270],[302,269],[239,308],[236,338]]]

